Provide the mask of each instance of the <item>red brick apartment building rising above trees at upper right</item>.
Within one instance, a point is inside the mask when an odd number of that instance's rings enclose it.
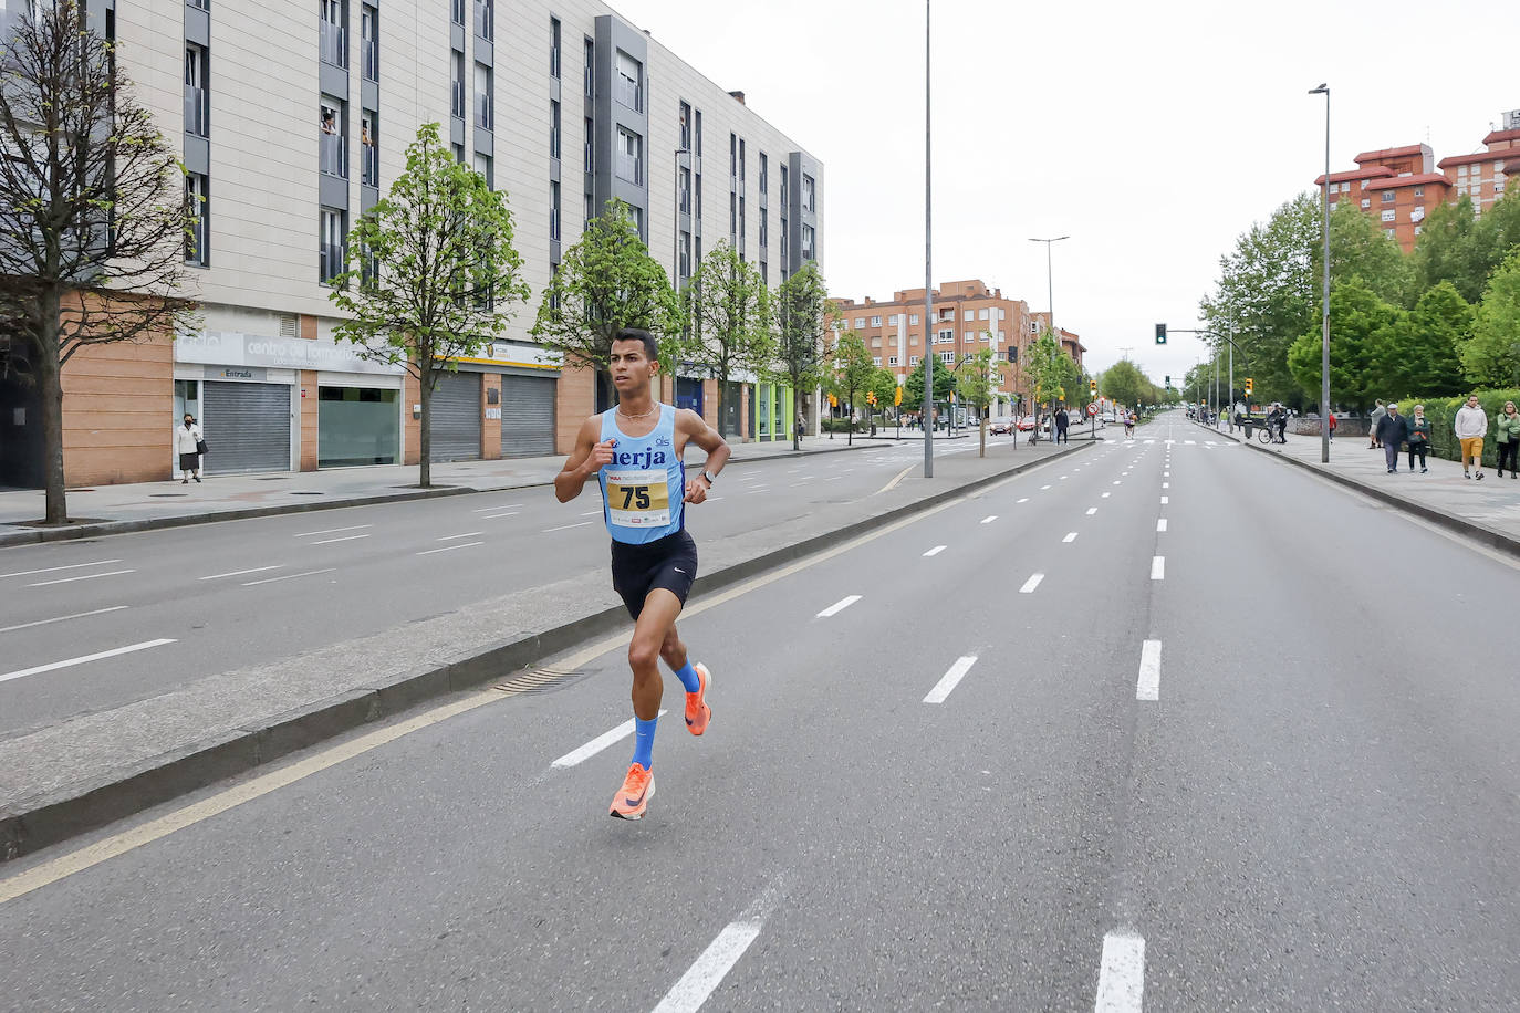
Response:
[[[1506,112],[1503,129],[1491,131],[1484,146],[1439,163],[1429,144],[1362,152],[1356,169],[1330,173],[1330,210],[1354,200],[1409,252],[1429,210],[1467,196],[1473,213],[1482,214],[1503,196],[1506,178],[1520,173],[1520,109]],[[1315,179],[1316,187],[1324,182],[1322,175]]]

